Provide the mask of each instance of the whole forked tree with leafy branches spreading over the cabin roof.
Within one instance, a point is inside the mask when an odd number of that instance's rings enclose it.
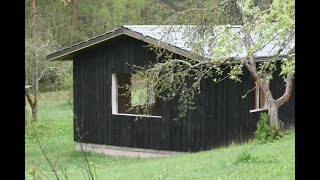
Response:
[[[135,67],[135,71],[149,77],[148,82],[154,82],[158,97],[168,100],[179,94],[179,114],[184,116],[187,109],[194,108],[194,98],[201,92],[200,82],[203,79],[211,78],[218,83],[229,78],[241,82],[243,68],[246,68],[254,78],[256,88],[260,88],[266,98],[270,125],[280,130],[278,109],[290,98],[295,73],[295,2],[274,0],[270,5],[260,3],[259,6],[253,0],[219,3],[187,0],[180,4],[182,10],[169,17],[168,21],[189,24],[185,38],[192,47],[190,56],[198,54],[209,58],[175,59],[172,53],[151,46],[162,60]],[[230,10],[237,16],[232,16]],[[230,22],[241,26],[224,25]],[[223,26],[217,26],[221,24]],[[257,54],[267,46],[271,60],[257,65]],[[210,50],[204,51],[208,47]],[[286,90],[275,99],[268,82],[275,75],[275,63],[280,58],[281,73],[277,75],[284,78]]]

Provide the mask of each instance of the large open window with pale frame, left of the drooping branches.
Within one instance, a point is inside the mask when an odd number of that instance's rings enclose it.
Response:
[[[148,116],[161,117],[160,103],[155,97],[152,84],[142,75],[113,73],[111,92],[112,114],[145,116],[141,107],[148,105],[151,107],[151,115]]]

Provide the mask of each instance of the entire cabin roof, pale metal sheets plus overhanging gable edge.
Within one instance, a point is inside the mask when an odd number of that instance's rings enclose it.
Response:
[[[239,36],[243,36],[243,33],[240,32],[241,26],[216,26],[212,28],[212,32],[210,32],[210,35],[212,34],[223,34],[221,33],[222,30],[224,30],[225,27],[228,27],[231,32],[238,33]],[[173,52],[178,53],[180,55],[186,56],[188,52],[197,53],[200,55],[200,58],[208,58],[211,59],[214,57],[214,51],[213,47],[215,46],[215,41],[212,41],[209,43],[204,43],[203,46],[201,46],[201,51],[194,51],[194,46],[192,44],[195,42],[193,39],[194,36],[190,36],[190,33],[195,33],[196,28],[194,26],[189,25],[124,25],[121,28],[115,29],[113,31],[106,32],[104,34],[98,35],[96,37],[90,38],[86,41],[79,42],[77,44],[71,45],[67,48],[61,49],[59,51],[53,52],[49,55],[47,55],[47,59],[56,59],[56,60],[65,60],[70,59],[73,57],[73,55],[80,50],[84,50],[88,47],[91,47],[95,44],[99,44],[101,42],[107,41],[113,37],[119,36],[121,34],[125,34],[128,36],[131,36],[133,38],[137,38],[139,40],[143,40],[147,43],[151,43],[154,45],[159,45],[163,48],[168,48],[168,50],[174,50]],[[253,38],[253,42],[255,43],[258,39],[258,36],[251,35]],[[151,41],[148,40],[148,38],[152,39]],[[159,43],[155,43],[159,42]],[[161,46],[161,43],[167,44],[169,46]],[[290,42],[291,44],[286,47],[281,53],[281,55],[287,55],[290,49],[294,47],[294,40]],[[256,57],[258,58],[265,58],[270,57],[272,54],[274,54],[279,47],[275,47],[276,44],[279,43],[269,43],[266,45],[263,49],[256,52]],[[174,47],[177,49],[170,48]],[[179,52],[179,49],[181,49],[182,52]],[[243,58],[246,57],[246,50],[244,48],[244,45],[237,48],[239,52],[237,53],[230,53],[229,57],[239,57]],[[227,57],[225,57],[227,58]]]

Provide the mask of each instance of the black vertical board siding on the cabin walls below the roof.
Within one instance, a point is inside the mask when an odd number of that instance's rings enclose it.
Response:
[[[111,74],[132,73],[128,64],[144,65],[154,61],[154,53],[145,45],[133,38],[120,36],[75,57],[75,141],[198,151],[253,137],[260,112],[249,113],[249,102],[254,98],[254,93],[241,98],[250,90],[252,83],[247,71],[242,83],[225,80],[214,84],[211,80],[203,81],[202,93],[196,101],[197,108],[183,120],[173,120],[177,117],[177,99],[161,104],[162,118],[136,119],[112,115]],[[272,87],[277,93],[278,83],[281,82],[280,79],[274,81]],[[293,98],[294,95],[290,104],[280,111],[280,118],[288,119],[287,122],[294,122]],[[80,131],[76,131],[77,127]]]

